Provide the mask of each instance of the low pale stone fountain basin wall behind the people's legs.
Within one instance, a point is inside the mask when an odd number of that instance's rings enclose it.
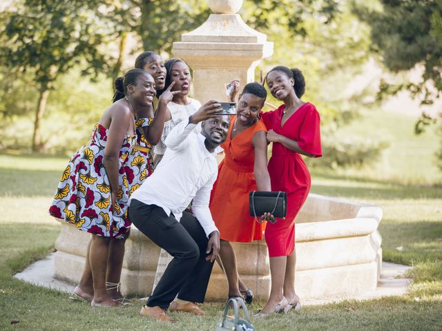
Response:
[[[374,205],[309,194],[296,223],[296,292],[303,299],[338,299],[376,288],[381,274],[382,210]],[[55,277],[78,283],[90,234],[63,223],[55,243]],[[234,243],[238,272],[258,299],[270,291],[265,241]],[[126,241],[122,292],[151,294],[160,248],[133,227]],[[206,299],[223,301],[227,280],[215,264]]]

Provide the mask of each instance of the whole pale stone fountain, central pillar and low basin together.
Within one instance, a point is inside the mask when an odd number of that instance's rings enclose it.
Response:
[[[194,97],[202,102],[224,100],[224,83],[253,81],[261,59],[271,56],[273,43],[251,29],[236,14],[242,0],[209,0],[213,14],[199,28],[173,43],[173,54],[193,69]],[[296,224],[296,291],[305,299],[326,299],[363,294],[376,288],[381,273],[381,235],[377,228],[382,210],[374,205],[310,194]],[[90,235],[62,222],[55,243],[55,277],[78,283]],[[238,272],[259,299],[270,290],[269,257],[265,241],[235,243]],[[122,292],[151,294],[158,248],[137,228],[126,242]],[[215,265],[206,294],[209,301],[224,301],[227,281]]]

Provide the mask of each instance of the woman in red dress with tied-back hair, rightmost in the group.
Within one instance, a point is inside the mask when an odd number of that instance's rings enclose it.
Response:
[[[295,217],[310,190],[310,174],[301,155],[321,157],[318,110],[300,97],[305,79],[298,69],[278,66],[267,74],[271,95],[284,104],[262,113],[267,140],[273,143],[269,174],[271,190],[287,192],[287,217],[268,223],[265,240],[269,249],[271,292],[258,317],[298,308],[295,292]]]

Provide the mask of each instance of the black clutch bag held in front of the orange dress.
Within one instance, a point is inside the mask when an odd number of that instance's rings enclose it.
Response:
[[[249,194],[250,216],[261,217],[270,212],[274,217],[282,219],[287,215],[287,194],[282,191],[251,191]]]

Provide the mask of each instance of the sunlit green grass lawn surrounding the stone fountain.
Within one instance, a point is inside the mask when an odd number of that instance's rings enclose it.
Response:
[[[408,122],[412,125],[411,119]],[[401,130],[398,128],[398,132]],[[394,138],[390,139],[392,146],[401,142],[401,134],[390,134]],[[419,145],[419,141],[414,143]],[[422,167],[430,168],[429,149],[426,146],[416,157],[421,163],[414,160],[409,167],[399,166],[401,161],[387,155],[383,162],[398,162],[394,174],[376,176],[370,169],[312,173],[314,193],[381,205],[384,216],[379,230],[384,260],[414,267],[410,293],[304,307],[299,312],[254,320],[257,330],[442,329],[442,187],[431,185],[440,183],[439,179],[431,181],[423,171]],[[407,157],[410,155],[402,160]],[[64,293],[12,278],[53,248],[59,224],[48,217],[46,210],[66,161],[60,157],[0,154],[0,330],[214,330],[222,303],[204,305],[209,312],[204,317],[174,314],[179,323],[164,325],[140,318],[142,303],[137,300],[128,308],[90,308],[86,303],[69,301]],[[434,169],[428,171],[438,176]],[[419,170],[423,175],[418,179],[413,174],[419,174]],[[256,312],[262,304],[253,303],[251,311]],[[11,324],[12,320],[19,323]]]

